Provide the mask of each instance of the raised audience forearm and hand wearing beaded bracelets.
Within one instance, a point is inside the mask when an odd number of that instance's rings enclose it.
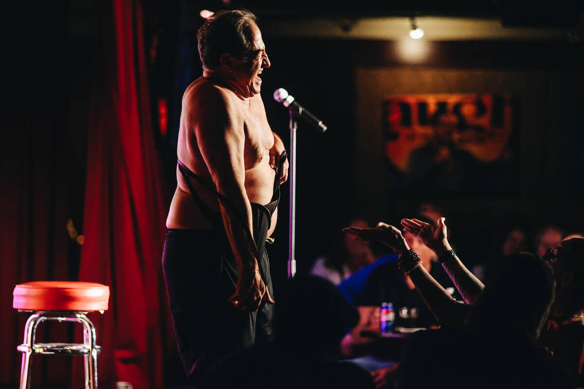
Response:
[[[436,320],[445,325],[462,325],[467,315],[468,306],[457,303],[446,289],[440,285],[421,265],[421,262],[410,261],[413,255],[401,232],[394,226],[378,223],[375,228],[349,227],[344,231],[353,233],[363,240],[376,240],[390,246],[401,258],[409,261],[410,266],[404,268],[406,275],[422,296],[422,299],[432,311]]]

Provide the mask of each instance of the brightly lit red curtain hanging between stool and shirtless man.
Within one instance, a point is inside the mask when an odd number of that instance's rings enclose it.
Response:
[[[152,134],[142,8],[138,0],[99,6],[79,281],[110,286],[109,310],[91,317],[103,349],[100,387],[126,381],[134,389],[158,389],[163,339],[172,332],[160,261],[164,183]],[[75,363],[77,382],[82,369]]]

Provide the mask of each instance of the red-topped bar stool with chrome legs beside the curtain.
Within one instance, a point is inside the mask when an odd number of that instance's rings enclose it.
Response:
[[[101,348],[95,342],[95,328],[85,315],[107,310],[109,287],[93,282],[37,281],[16,285],[12,307],[19,312],[32,312],[26,321],[25,340],[18,346],[22,352],[20,389],[30,388],[30,366],[34,354],[83,355],[85,388],[98,387],[97,361]],[[83,324],[83,344],[36,343],[37,325],[45,320],[76,321]]]

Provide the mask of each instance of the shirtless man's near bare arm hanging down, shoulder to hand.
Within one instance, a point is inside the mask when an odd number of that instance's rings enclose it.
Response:
[[[190,100],[190,101],[189,101]],[[257,310],[262,299],[273,302],[255,257],[251,205],[245,191],[244,119],[227,92],[215,87],[186,101],[187,128],[193,129],[217,191],[234,209],[221,204],[225,232],[237,261],[239,278],[230,301],[238,309]],[[252,235],[250,236],[249,233]]]

